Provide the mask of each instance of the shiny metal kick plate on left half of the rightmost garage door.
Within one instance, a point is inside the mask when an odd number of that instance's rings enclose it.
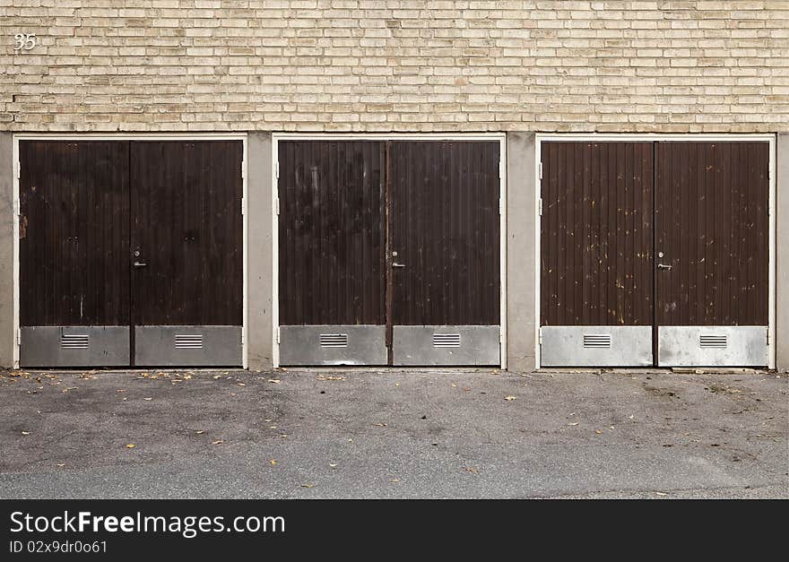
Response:
[[[651,367],[652,326],[542,326],[542,367]]]

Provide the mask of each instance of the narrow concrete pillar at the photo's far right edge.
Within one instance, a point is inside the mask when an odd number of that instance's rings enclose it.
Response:
[[[776,368],[789,371],[789,133],[776,154]]]

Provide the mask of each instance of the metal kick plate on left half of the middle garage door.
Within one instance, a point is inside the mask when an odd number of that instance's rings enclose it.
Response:
[[[386,326],[280,326],[280,364],[386,365]]]

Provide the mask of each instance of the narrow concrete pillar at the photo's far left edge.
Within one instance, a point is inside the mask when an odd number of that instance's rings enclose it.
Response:
[[[0,367],[13,367],[13,135],[0,133]]]

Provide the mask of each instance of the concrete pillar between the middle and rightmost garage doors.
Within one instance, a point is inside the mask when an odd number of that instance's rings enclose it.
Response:
[[[507,369],[537,365],[534,134],[507,133]]]

